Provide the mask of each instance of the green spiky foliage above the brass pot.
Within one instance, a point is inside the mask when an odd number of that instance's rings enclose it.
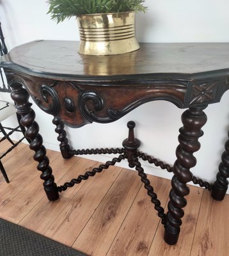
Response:
[[[51,19],[58,23],[81,14],[145,12],[145,0],[48,0]]]

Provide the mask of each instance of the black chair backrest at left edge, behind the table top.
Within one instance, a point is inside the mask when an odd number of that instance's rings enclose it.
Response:
[[[3,30],[1,28],[0,22],[0,55],[3,56],[4,54],[8,53],[8,49],[6,47],[6,43],[4,42]],[[0,66],[0,92],[11,92],[11,88],[6,83],[6,78],[4,77],[3,68]]]

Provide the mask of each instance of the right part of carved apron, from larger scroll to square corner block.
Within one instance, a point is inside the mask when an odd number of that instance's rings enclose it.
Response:
[[[118,120],[133,109],[152,100],[164,99],[181,107],[186,85],[162,83],[104,84],[104,86],[81,86],[79,108],[90,122],[109,123]],[[107,88],[109,87],[109,88]],[[92,89],[92,90],[90,90]],[[79,89],[78,89],[79,90]],[[171,95],[170,95],[171,94]]]

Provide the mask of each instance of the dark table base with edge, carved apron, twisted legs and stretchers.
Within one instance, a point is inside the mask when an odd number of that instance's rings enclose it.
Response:
[[[136,168],[145,184],[148,195],[165,227],[164,240],[168,244],[178,241],[180,225],[184,216],[183,208],[189,194],[186,183],[193,180],[195,184],[212,190],[212,197],[223,200],[228,188],[229,147],[225,144],[219,173],[214,184],[209,184],[193,176],[191,168],[196,159],[193,153],[200,149],[198,138],[203,135],[201,127],[207,122],[204,109],[208,104],[219,102],[229,87],[228,68],[194,74],[135,74],[127,76],[68,76],[45,72],[35,72],[28,68],[3,61],[3,67],[10,86],[13,88],[12,99],[17,104],[17,112],[22,116],[21,124],[26,127],[26,137],[31,141],[30,148],[35,151],[34,159],[38,161],[38,170],[42,172],[43,187],[49,200],[56,200],[59,192],[71,188],[82,180],[109,168],[123,159],[127,159],[131,168]],[[100,164],[98,168],[79,175],[79,177],[57,186],[49,166],[42,136],[35,122],[35,112],[31,109],[29,95],[46,113],[54,116],[61,154],[70,158],[81,154],[119,154],[112,161]],[[115,95],[115,97],[114,97]],[[123,99],[125,95],[125,99]],[[173,167],[158,161],[152,156],[139,152],[140,141],[134,137],[134,122],[129,122],[129,137],[123,141],[122,148],[95,148],[72,150],[68,144],[64,123],[71,127],[80,127],[91,122],[108,123],[118,120],[123,115],[141,104],[152,100],[168,100],[178,108],[187,108],[182,115],[183,126],[178,136],[177,161]],[[107,103],[109,102],[109,103]],[[139,163],[139,158],[173,172],[171,180],[168,213],[164,213],[161,203],[150,185]]]

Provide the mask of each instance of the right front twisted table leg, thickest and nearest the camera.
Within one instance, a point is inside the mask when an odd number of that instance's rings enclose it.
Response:
[[[174,176],[171,180],[170,202],[165,225],[164,240],[168,244],[176,244],[180,233],[181,218],[184,216],[183,207],[187,201],[184,196],[189,194],[186,183],[191,181],[193,174],[190,168],[196,165],[193,153],[200,149],[198,138],[203,135],[201,127],[207,122],[204,108],[190,108],[182,114],[183,127],[180,128],[176,150],[177,161],[173,166]]]

